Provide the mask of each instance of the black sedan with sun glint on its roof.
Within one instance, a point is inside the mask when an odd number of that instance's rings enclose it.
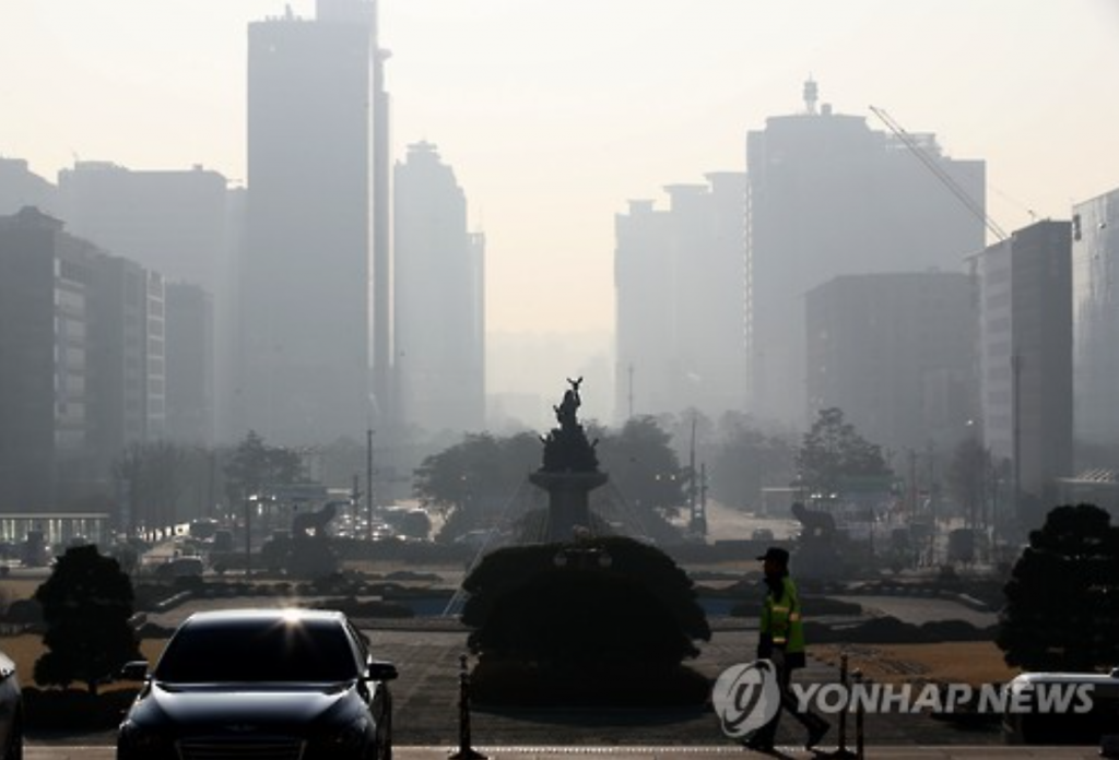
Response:
[[[119,760],[389,760],[396,668],[341,612],[196,612],[121,723]]]

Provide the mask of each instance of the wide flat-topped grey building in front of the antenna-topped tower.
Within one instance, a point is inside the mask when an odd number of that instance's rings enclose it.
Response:
[[[843,275],[806,296],[808,405],[839,408],[884,449],[947,454],[975,414],[971,278]]]

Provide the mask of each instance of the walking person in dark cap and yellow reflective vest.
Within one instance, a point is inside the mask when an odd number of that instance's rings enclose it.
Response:
[[[797,585],[789,577],[789,552],[779,547],[770,547],[758,559],[762,561],[762,571],[765,573],[765,601],[762,604],[758,658],[769,659],[775,666],[781,704],[773,720],[746,740],[746,747],[771,752],[781,720],[781,709],[784,709],[808,730],[805,747],[810,750],[820,743],[830,725],[819,715],[801,712],[789,691],[792,671],[802,668],[806,664],[800,597],[797,596]]]

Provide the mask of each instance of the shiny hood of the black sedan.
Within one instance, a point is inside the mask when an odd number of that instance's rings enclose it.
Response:
[[[320,687],[222,684],[218,687],[156,682],[134,706],[132,718],[178,726],[209,725],[214,730],[234,733],[276,725],[299,730],[311,725],[347,699],[357,699],[352,684]]]

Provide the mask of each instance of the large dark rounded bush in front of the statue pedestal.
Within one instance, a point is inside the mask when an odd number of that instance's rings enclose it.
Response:
[[[698,654],[695,642],[711,638],[687,574],[659,549],[631,539],[500,549],[463,587],[470,597],[462,620],[473,628],[478,675],[516,673],[508,685],[518,690],[526,682],[562,682],[563,688],[540,691],[562,693],[568,703],[580,694],[601,703],[606,682],[678,672]],[[630,703],[647,690],[614,687],[611,700]]]

